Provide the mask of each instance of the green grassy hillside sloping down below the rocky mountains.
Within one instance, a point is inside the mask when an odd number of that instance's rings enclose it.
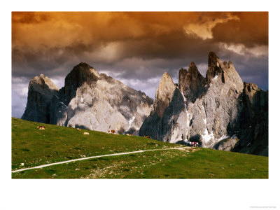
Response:
[[[268,158],[190,148],[142,137],[106,134],[12,118],[12,170],[96,155],[148,151],[69,162],[12,174],[13,179],[267,179]],[[24,165],[22,165],[24,163]]]

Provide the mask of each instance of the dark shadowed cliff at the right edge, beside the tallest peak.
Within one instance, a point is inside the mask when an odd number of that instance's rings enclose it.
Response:
[[[268,156],[268,91],[244,83],[240,98],[240,141],[232,151]]]

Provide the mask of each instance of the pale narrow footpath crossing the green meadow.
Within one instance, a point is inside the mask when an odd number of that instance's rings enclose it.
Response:
[[[127,153],[114,153],[114,154],[109,154],[109,155],[98,155],[98,156],[91,156],[91,157],[87,157],[87,158],[78,158],[78,159],[74,159],[74,160],[66,160],[66,161],[62,161],[62,162],[53,162],[53,163],[50,163],[50,164],[38,165],[36,167],[30,167],[30,168],[25,168],[25,169],[18,169],[18,170],[12,171],[12,173],[22,172],[22,171],[31,170],[31,169],[40,169],[40,168],[49,167],[49,166],[52,166],[52,165],[59,165],[59,164],[67,163],[67,162],[75,162],[75,161],[80,161],[80,160],[88,160],[88,159],[92,159],[92,158],[102,158],[102,157],[109,157],[109,156],[116,156],[116,155],[127,155],[127,154],[133,154],[133,153],[144,153],[144,152],[148,152],[148,151],[182,150],[182,149],[184,149],[184,148],[183,147],[161,148],[161,149],[146,150],[146,151],[132,151],[132,152],[127,152]]]

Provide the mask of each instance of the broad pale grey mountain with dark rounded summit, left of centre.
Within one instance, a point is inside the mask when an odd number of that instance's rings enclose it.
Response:
[[[80,63],[66,76],[64,87],[51,97],[48,107],[47,123],[138,134],[153,109],[153,99]]]

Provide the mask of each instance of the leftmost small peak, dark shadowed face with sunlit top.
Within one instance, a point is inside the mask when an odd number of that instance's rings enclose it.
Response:
[[[31,78],[28,86],[27,107],[22,116],[23,120],[39,123],[50,122],[50,102],[57,95],[59,88],[47,76]]]

